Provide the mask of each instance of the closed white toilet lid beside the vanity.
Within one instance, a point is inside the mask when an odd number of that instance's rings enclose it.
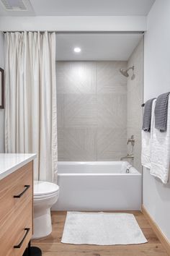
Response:
[[[49,195],[57,192],[58,185],[51,182],[34,182],[34,196]]]

